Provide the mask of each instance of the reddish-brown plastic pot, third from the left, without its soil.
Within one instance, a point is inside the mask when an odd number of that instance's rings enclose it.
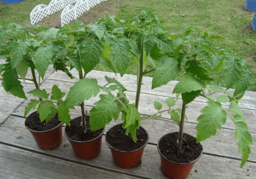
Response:
[[[120,168],[130,169],[130,168],[140,164],[144,148],[149,141],[148,133],[147,133],[147,136],[148,136],[147,141],[145,142],[145,144],[142,147],[140,147],[139,149],[133,150],[133,151],[128,151],[128,152],[115,149],[107,142],[107,138],[105,138],[105,141],[111,150],[111,153],[112,153],[112,156],[113,156],[113,159],[114,159],[114,162],[116,163],[116,165],[119,166]]]

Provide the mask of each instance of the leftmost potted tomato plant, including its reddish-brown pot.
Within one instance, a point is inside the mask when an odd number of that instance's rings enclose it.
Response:
[[[50,94],[40,89],[40,80],[44,79],[48,66],[54,63],[54,47],[49,41],[56,33],[55,28],[37,26],[22,28],[9,22],[0,25],[0,44],[2,44],[0,57],[6,59],[0,64],[2,86],[12,95],[27,99],[21,81],[30,81],[35,85],[35,89],[28,93],[38,97],[39,100],[31,99],[26,106],[25,116],[31,109],[37,106],[38,108],[37,112],[26,118],[25,126],[42,149],[56,148],[61,144],[61,122],[67,122],[65,116],[57,115],[62,113],[57,106],[63,106],[61,98],[64,93],[54,85],[51,100],[48,100]],[[28,73],[28,70],[31,72]]]

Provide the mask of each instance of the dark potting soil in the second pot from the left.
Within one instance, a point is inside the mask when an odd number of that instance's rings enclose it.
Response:
[[[72,140],[76,140],[76,141],[88,141],[98,137],[103,132],[104,128],[96,131],[91,131],[90,125],[89,125],[89,119],[90,119],[90,116],[85,116],[86,129],[87,129],[86,133],[84,133],[82,128],[81,117],[72,119],[70,121],[70,127],[66,126],[66,129],[65,129],[67,136]]]

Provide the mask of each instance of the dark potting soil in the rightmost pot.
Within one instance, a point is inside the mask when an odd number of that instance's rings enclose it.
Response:
[[[177,163],[189,163],[201,154],[203,147],[196,142],[196,138],[188,134],[183,134],[182,154],[177,155],[177,146],[179,132],[166,134],[160,139],[159,149],[161,153],[168,159]]]

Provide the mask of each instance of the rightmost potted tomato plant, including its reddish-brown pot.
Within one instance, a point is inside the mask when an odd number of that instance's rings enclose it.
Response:
[[[191,32],[201,34],[199,38],[190,35]],[[200,28],[187,28],[182,37],[173,39],[173,53],[167,54],[172,62],[168,69],[166,63],[156,68],[153,75],[152,88],[166,84],[168,80],[163,76],[170,69],[175,69],[175,75],[179,82],[173,89],[173,94],[182,97],[182,108],[174,108],[175,98],[166,99],[167,110],[161,110],[162,104],[155,101],[155,108],[162,112],[168,112],[171,120],[179,125],[179,132],[169,133],[158,141],[158,152],[161,157],[163,173],[172,179],[188,177],[193,164],[201,157],[203,147],[199,142],[216,134],[217,129],[230,119],[236,126],[235,138],[239,140],[238,151],[242,153],[241,167],[248,159],[252,144],[252,137],[248,132],[245,117],[238,106],[238,100],[243,97],[245,90],[252,82],[251,74],[245,67],[244,60],[233,52],[215,47],[212,39],[220,39],[216,35],[209,35]],[[173,70],[172,70],[173,73]],[[217,73],[223,73],[225,88],[213,85],[217,84]],[[165,78],[165,79],[164,79]],[[223,81],[222,81],[223,83]],[[229,91],[235,88],[234,92]],[[197,117],[196,138],[184,133],[184,120],[186,106],[196,97],[204,97],[207,106],[201,109]],[[227,105],[229,108],[224,108]],[[150,116],[152,117],[152,116]],[[150,117],[145,117],[150,118]]]

